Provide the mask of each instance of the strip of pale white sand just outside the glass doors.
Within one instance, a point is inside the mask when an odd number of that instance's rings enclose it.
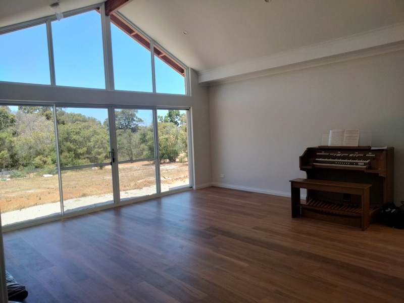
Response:
[[[178,181],[171,184],[161,184],[162,191],[168,191],[170,188],[183,186],[184,181]],[[126,190],[121,192],[121,200],[129,198],[140,197],[144,195],[156,193],[156,186],[148,186],[141,189]],[[80,198],[73,198],[64,200],[65,213],[79,211],[83,209],[92,208],[95,206],[111,204],[114,198],[111,194],[93,195]],[[46,217],[53,214],[60,214],[60,203],[49,203],[37,206],[28,207],[18,211],[11,211],[2,214],[2,225],[8,225],[16,222],[22,222],[40,217]]]

